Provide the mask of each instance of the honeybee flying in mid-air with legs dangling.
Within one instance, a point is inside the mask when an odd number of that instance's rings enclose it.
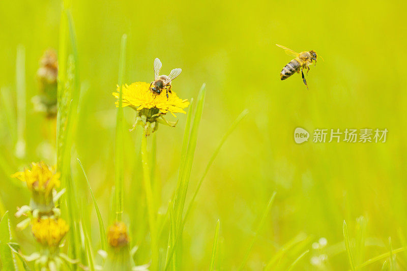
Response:
[[[307,69],[308,74],[309,65],[313,63],[312,61],[315,61],[316,64],[316,52],[314,50],[311,50],[297,53],[291,49],[288,49],[285,46],[279,44],[276,45],[280,48],[283,48],[286,54],[295,56],[295,58],[292,61],[290,61],[287,65],[285,65],[285,67],[282,69],[280,73],[281,80],[287,79],[293,74],[300,73],[301,71],[302,80],[308,89],[307,81],[305,80],[303,70]]]

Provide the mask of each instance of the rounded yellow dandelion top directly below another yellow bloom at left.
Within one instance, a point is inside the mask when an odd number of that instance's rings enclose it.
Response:
[[[60,245],[68,230],[69,226],[62,218],[35,219],[31,222],[31,231],[37,242],[51,248]]]

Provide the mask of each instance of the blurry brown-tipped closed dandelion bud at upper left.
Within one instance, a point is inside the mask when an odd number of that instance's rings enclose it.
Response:
[[[37,71],[40,94],[33,97],[34,108],[46,112],[48,117],[56,115],[58,62],[55,50],[45,51]]]

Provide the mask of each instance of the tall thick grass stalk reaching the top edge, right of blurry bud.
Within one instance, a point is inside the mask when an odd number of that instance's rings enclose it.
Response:
[[[71,176],[71,148],[76,127],[77,106],[80,94],[78,51],[73,19],[69,2],[64,3],[61,18],[60,58],[58,72],[58,112],[57,112],[57,169],[61,172],[62,187],[66,187],[68,223],[70,225],[69,255],[71,258],[83,258],[82,238],[80,235],[80,212],[76,202],[77,193]],[[70,41],[72,54],[68,53]],[[76,269],[76,266],[73,265]]]

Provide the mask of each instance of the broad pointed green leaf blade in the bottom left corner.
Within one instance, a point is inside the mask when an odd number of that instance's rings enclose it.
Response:
[[[8,245],[10,239],[9,213],[6,212],[0,221],[0,259],[2,260],[2,270],[13,271],[16,270],[16,262]]]

